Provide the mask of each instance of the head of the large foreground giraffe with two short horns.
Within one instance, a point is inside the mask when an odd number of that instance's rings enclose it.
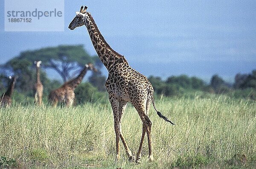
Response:
[[[84,8],[84,9],[83,9]],[[74,30],[76,27],[84,25],[84,17],[87,6],[81,6],[80,11],[76,11],[76,17],[71,21],[70,25],[68,26],[69,29]]]

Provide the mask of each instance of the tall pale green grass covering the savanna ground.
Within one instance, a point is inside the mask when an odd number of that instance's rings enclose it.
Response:
[[[141,163],[129,163],[121,145],[115,160],[115,134],[110,104],[86,103],[73,108],[18,103],[0,109],[0,168],[254,168],[256,102],[224,95],[160,97],[151,107],[154,161],[148,163],[147,139]],[[142,122],[128,105],[122,132],[137,153]],[[0,161],[1,162],[1,161]],[[6,166],[9,165],[9,166]]]

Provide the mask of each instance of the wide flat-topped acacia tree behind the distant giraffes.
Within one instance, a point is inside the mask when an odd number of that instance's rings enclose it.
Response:
[[[44,69],[55,70],[65,82],[72,78],[72,74],[80,71],[86,63],[94,63],[96,58],[96,56],[90,56],[83,45],[61,45],[21,52],[18,57],[9,60],[2,68],[10,68],[13,60],[27,60],[31,63],[41,60]]]

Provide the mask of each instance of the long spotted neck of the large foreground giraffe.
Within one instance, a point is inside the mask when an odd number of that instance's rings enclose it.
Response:
[[[110,55],[114,55],[115,57],[123,57],[121,54],[114,51],[108,43],[105,41],[102,34],[99,32],[99,29],[93,20],[93,17],[89,12],[86,13],[84,17],[84,25],[87,27],[88,33],[90,35],[90,39],[93,43],[94,49],[96,50],[100,60],[104,64],[104,66],[109,70],[108,59]],[[124,58],[124,57],[123,57]],[[125,58],[124,58],[125,60]],[[126,63],[128,63],[125,60]]]

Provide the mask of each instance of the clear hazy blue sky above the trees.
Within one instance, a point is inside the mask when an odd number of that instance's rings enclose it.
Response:
[[[64,32],[4,32],[0,1],[0,64],[24,50],[61,44],[84,44],[96,54],[85,26],[67,28],[86,5],[109,45],[146,76],[209,80],[219,74],[232,81],[236,73],[256,69],[255,0],[65,0]]]

